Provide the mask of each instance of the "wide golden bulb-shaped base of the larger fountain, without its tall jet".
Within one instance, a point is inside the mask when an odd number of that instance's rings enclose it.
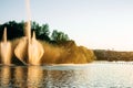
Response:
[[[28,31],[28,30],[27,30]],[[28,34],[30,35],[30,34]],[[33,36],[23,37],[18,46],[14,48],[16,56],[24,64],[24,65],[40,65],[40,59],[43,56],[44,50],[39,41],[35,38],[35,33],[33,32]]]

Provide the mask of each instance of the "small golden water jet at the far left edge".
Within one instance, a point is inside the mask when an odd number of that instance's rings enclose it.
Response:
[[[7,41],[7,28],[3,30],[3,40],[0,43],[1,64],[11,65],[12,48],[11,43]]]

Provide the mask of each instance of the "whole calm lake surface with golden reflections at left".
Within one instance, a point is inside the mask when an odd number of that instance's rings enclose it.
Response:
[[[133,88],[133,63],[0,66],[0,88]]]

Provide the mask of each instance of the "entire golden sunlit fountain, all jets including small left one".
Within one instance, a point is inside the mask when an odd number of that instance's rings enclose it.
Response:
[[[1,64],[11,65],[11,58],[13,53],[18,59],[20,59],[24,65],[40,65],[41,58],[44,54],[43,46],[35,38],[35,33],[31,37],[31,22],[30,22],[30,0],[27,1],[27,13],[28,22],[24,26],[25,36],[20,38],[20,42],[17,44],[16,48],[11,47],[11,42],[7,41],[7,28],[3,31],[3,41],[0,43],[0,57]]]

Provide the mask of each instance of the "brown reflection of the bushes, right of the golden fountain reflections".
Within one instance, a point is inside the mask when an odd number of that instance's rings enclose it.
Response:
[[[47,72],[47,87],[82,88],[88,85],[88,75],[83,70],[50,70]]]

